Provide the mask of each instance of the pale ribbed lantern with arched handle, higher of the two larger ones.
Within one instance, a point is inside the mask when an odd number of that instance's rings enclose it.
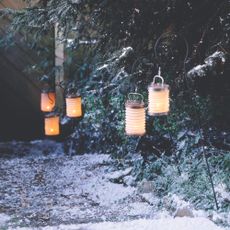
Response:
[[[156,83],[159,78],[161,83]],[[164,84],[164,79],[160,76],[160,69],[158,75],[153,78],[153,82],[148,87],[149,91],[149,105],[148,114],[150,116],[162,116],[169,113],[169,85]]]

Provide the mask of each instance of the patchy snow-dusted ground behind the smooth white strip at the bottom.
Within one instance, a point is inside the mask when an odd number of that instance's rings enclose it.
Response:
[[[0,151],[0,213],[11,216],[15,225],[122,221],[154,214],[134,187],[107,178],[108,155],[66,156],[52,142],[0,144]]]

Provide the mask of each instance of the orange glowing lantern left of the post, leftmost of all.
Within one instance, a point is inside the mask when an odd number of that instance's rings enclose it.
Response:
[[[56,95],[52,90],[43,90],[41,93],[41,111],[51,112],[55,107]]]

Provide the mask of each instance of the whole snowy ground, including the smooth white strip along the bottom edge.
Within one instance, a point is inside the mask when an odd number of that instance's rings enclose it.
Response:
[[[108,155],[63,152],[52,141],[0,143],[0,229],[219,229],[204,218],[172,219],[153,194],[114,183],[131,169],[112,172]]]

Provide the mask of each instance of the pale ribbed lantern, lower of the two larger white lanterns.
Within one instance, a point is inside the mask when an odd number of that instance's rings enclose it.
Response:
[[[139,100],[131,99],[131,96],[138,96]],[[125,123],[125,132],[127,135],[143,136],[145,134],[145,108],[141,94],[129,94],[128,101],[125,104]]]

